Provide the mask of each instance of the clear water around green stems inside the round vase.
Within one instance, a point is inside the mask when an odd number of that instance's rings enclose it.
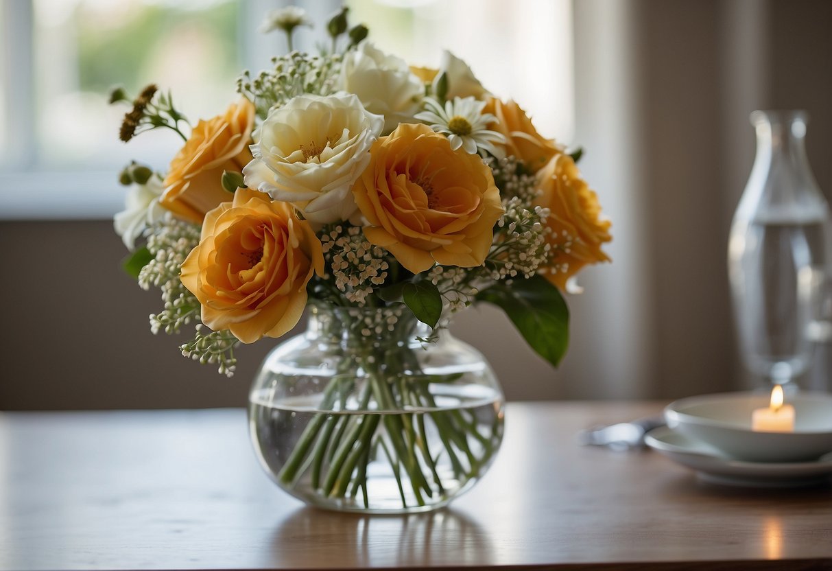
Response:
[[[491,464],[503,400],[470,385],[432,387],[431,395],[429,407],[374,413],[358,394],[340,410],[321,410],[323,395],[275,400],[263,390],[250,395],[251,435],[272,478],[311,504],[365,513],[433,509]]]

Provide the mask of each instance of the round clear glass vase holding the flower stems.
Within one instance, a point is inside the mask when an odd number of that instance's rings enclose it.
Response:
[[[503,439],[503,390],[477,350],[403,306],[310,305],[255,376],[260,464],[324,509],[428,511],[470,489]]]

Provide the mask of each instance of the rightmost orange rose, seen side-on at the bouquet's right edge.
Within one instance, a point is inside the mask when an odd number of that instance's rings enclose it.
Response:
[[[601,246],[612,240],[612,222],[601,216],[598,197],[569,155],[553,156],[537,172],[537,186],[542,196],[536,204],[549,209],[547,226],[552,231],[548,238],[552,264],[545,276],[565,290],[567,280],[583,266],[610,261]]]

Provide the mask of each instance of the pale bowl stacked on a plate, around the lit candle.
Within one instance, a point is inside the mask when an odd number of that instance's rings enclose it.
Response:
[[[832,395],[796,393],[794,432],[751,429],[754,410],[770,395],[726,393],[676,400],[666,427],[645,442],[668,458],[719,484],[793,487],[832,482]]]

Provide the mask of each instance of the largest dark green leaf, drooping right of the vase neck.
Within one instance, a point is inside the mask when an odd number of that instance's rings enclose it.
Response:
[[[557,287],[543,276],[517,279],[480,291],[477,299],[506,312],[537,355],[556,366],[569,345],[569,308]]]

